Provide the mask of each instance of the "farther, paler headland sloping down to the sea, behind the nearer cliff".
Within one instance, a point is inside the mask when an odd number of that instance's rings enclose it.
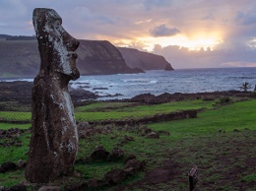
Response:
[[[143,70],[165,70],[167,68],[173,70],[163,56],[134,48],[118,47],[118,49],[130,68],[141,68]]]

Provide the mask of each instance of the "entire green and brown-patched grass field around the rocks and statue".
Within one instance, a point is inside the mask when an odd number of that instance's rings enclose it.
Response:
[[[96,146],[100,145],[109,152],[114,147],[121,147],[126,157],[133,154],[138,159],[146,161],[145,172],[139,173],[120,185],[100,190],[124,190],[124,188],[126,190],[188,190],[187,173],[195,165],[199,168],[197,184],[199,190],[256,190],[256,99],[220,107],[214,107],[215,103],[216,101],[203,100],[156,105],[96,102],[77,107],[78,120],[105,120],[109,117],[121,119],[205,108],[198,113],[197,118],[148,124],[147,126],[155,131],[170,133],[170,136],[160,135],[160,139],[145,138],[135,131],[117,130],[111,134],[81,139],[77,158],[89,158]],[[8,129],[15,125],[0,123],[0,128]],[[17,127],[26,129],[30,124],[17,125]],[[120,146],[125,135],[133,137],[134,141]],[[16,140],[1,139],[0,163],[6,160],[15,162],[19,159],[26,160],[29,140],[29,133]],[[18,148],[3,147],[4,143],[12,141],[21,141],[23,145]],[[82,174],[82,180],[86,181],[90,177],[102,178],[103,174],[111,168],[122,168],[123,162],[121,159],[116,162],[78,163],[75,169]],[[157,181],[155,178],[157,183],[153,184],[150,172],[156,169],[169,170],[168,181]],[[23,170],[0,173],[0,185],[11,186],[25,181],[23,173]],[[63,177],[55,184],[62,182],[64,186],[67,182],[81,181],[81,178],[74,178],[73,176]],[[138,180],[140,183],[137,183]],[[32,188],[32,185],[30,186]]]

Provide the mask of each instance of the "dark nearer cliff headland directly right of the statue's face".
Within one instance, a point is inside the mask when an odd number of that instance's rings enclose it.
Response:
[[[106,40],[80,40],[77,66],[82,75],[137,73],[119,50]]]

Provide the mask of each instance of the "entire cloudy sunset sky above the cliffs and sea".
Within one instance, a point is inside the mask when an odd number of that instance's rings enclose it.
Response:
[[[0,33],[33,35],[54,9],[78,39],[164,56],[174,69],[256,67],[255,0],[0,0]]]

